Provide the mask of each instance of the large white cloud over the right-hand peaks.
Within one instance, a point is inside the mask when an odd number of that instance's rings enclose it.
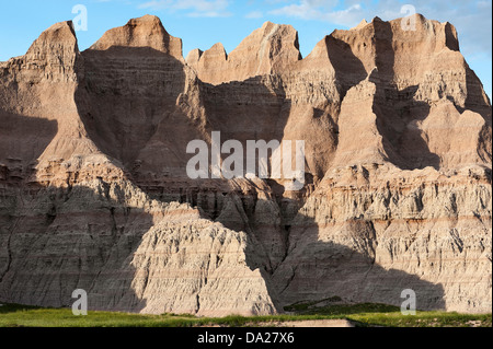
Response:
[[[324,21],[353,27],[363,19],[370,21],[379,16],[385,21],[405,16],[401,13],[405,4],[399,0],[265,0],[279,3],[272,10],[274,15],[297,18],[307,21]],[[417,13],[429,20],[448,21],[459,33],[461,50],[466,55],[486,54],[492,56],[492,1],[488,0],[413,0],[409,2]]]

